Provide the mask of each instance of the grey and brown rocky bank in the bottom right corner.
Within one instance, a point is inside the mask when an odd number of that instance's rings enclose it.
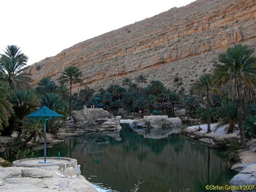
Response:
[[[238,172],[231,180],[230,185],[235,186],[246,186],[246,185],[255,185],[256,184],[256,143],[255,141],[247,142],[250,150],[243,151],[238,150],[238,156],[240,162],[231,167],[232,170]],[[245,190],[233,190],[233,192],[242,192]],[[250,191],[250,190],[248,190]],[[256,192],[256,188],[251,190]]]

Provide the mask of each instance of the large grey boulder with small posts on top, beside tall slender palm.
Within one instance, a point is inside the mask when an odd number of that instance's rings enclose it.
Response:
[[[81,128],[87,125],[100,125],[108,121],[109,112],[102,108],[89,108],[80,111],[72,111],[71,115],[74,118],[74,123]]]

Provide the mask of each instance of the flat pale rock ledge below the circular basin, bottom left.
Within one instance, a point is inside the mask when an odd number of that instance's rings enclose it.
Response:
[[[0,191],[97,192],[82,175],[62,178],[54,171],[23,167],[0,168]]]

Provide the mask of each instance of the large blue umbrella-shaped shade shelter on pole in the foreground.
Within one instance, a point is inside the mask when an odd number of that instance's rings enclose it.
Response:
[[[53,120],[58,117],[63,117],[53,110],[50,110],[48,107],[43,106],[37,111],[27,115],[28,118],[35,118],[44,122],[44,161],[40,161],[39,163],[51,163],[50,161],[46,161],[46,121]]]

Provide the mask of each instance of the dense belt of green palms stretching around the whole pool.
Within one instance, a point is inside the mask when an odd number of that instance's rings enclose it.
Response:
[[[228,133],[238,123],[241,143],[246,147],[245,138],[256,136],[256,58],[252,53],[247,46],[228,48],[220,54],[213,73],[202,74],[190,94],[174,92],[161,81],[150,81],[143,74],[133,80],[124,78],[122,84],[110,84],[97,91],[85,85],[79,92],[72,92],[73,84],[83,83],[78,68],[65,68],[58,82],[44,77],[32,88],[29,74],[24,73],[28,56],[18,46],[7,46],[0,57],[0,130],[2,134],[19,132],[8,149],[16,153],[15,146],[22,147],[32,138],[41,138],[42,125],[26,120],[26,115],[44,105],[64,115],[62,120],[48,122],[47,131],[56,134],[72,110],[96,105],[94,98],[98,97],[98,107],[114,115],[138,116],[136,113],[140,112],[143,116],[156,110],[157,114],[174,117],[175,111],[183,108],[186,114],[181,117],[207,122],[208,132],[211,122],[229,124]]]

